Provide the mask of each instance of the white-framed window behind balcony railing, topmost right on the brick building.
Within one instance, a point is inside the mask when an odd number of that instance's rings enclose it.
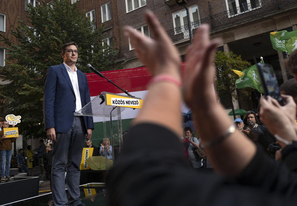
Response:
[[[260,0],[226,0],[228,17],[252,11],[261,7]]]

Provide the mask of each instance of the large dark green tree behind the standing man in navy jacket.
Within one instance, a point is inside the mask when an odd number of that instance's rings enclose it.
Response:
[[[118,55],[118,50],[102,46],[103,26],[94,29],[94,22],[85,18],[77,4],[54,0],[53,6],[54,9],[44,1],[43,6],[28,4],[28,22],[19,19],[19,25],[11,31],[18,44],[12,44],[0,34],[0,40],[7,45],[2,48],[8,57],[0,73],[11,81],[0,86],[0,99],[7,100],[7,114],[22,116],[17,126],[26,138],[46,136],[42,114],[44,78],[49,66],[63,62],[61,46],[64,43],[74,41],[79,45],[76,66],[85,73],[90,72],[86,67],[89,63],[99,71],[113,69]]]

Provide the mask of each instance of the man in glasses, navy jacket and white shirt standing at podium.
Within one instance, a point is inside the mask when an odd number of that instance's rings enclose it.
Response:
[[[78,45],[69,42],[62,46],[61,65],[50,66],[45,76],[43,113],[47,137],[54,142],[52,164],[52,195],[54,205],[85,205],[80,200],[80,162],[84,139],[91,139],[93,117],[74,116],[90,102],[87,77],[78,70]]]

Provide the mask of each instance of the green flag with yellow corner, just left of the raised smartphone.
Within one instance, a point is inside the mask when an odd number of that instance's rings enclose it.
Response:
[[[263,57],[260,59],[260,62],[264,64]],[[244,69],[243,71],[234,69],[231,70],[239,76],[239,79],[237,79],[235,82],[235,87],[237,89],[252,87],[258,90],[260,93],[264,93],[257,65],[252,65],[250,68]]]

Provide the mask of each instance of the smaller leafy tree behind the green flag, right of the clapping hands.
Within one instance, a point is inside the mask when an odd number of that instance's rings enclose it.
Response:
[[[241,55],[237,56],[232,51],[230,53],[218,51],[215,57],[217,68],[217,78],[215,88],[220,96],[227,96],[230,100],[238,99],[235,81],[239,78],[231,69],[243,71],[251,67],[251,63],[242,60]],[[240,89],[245,96],[251,94],[252,88]]]

